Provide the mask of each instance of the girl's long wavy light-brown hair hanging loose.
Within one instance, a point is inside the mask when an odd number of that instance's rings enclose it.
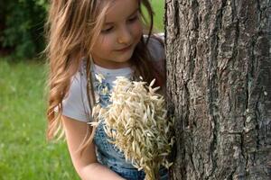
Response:
[[[150,71],[152,57],[146,48],[153,29],[154,12],[148,0],[138,0],[142,22],[148,24],[148,38],[142,39],[135,47],[131,62],[135,67],[135,76],[143,76],[151,81],[157,75]],[[149,18],[142,12],[145,6]],[[61,124],[62,100],[70,89],[70,79],[79,70],[82,57],[91,57],[92,48],[104,22],[109,1],[103,0],[51,0],[48,22],[46,23],[49,59],[49,100],[47,108],[47,139],[62,137]],[[90,48],[89,48],[90,47]],[[86,71],[88,71],[88,66]],[[83,87],[88,88],[88,87]],[[90,97],[91,98],[91,97]],[[57,110],[57,111],[56,111]],[[93,135],[94,130],[92,130]],[[87,136],[86,136],[87,137]],[[92,139],[86,139],[86,147]]]

